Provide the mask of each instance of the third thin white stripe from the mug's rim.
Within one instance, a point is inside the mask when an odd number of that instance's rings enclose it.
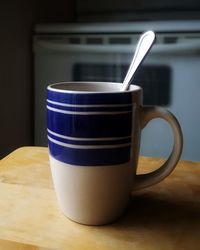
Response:
[[[57,137],[60,137],[60,138],[63,138],[63,139],[67,139],[67,140],[74,140],[74,141],[116,141],[116,140],[123,140],[123,139],[129,139],[129,138],[131,138],[131,136],[82,138],[82,137],[71,137],[71,136],[61,135],[61,134],[58,134],[58,133],[55,133],[55,132],[51,131],[50,129],[47,129],[47,131],[50,134],[55,135]]]

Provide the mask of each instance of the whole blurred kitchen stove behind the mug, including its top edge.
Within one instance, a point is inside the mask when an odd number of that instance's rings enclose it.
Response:
[[[133,83],[143,87],[144,105],[163,106],[179,119],[182,158],[200,160],[200,21],[36,26],[36,145],[46,145],[46,86],[71,80],[122,82],[139,36],[149,29],[157,40]],[[142,133],[141,154],[165,157],[171,140],[164,121],[151,122]]]

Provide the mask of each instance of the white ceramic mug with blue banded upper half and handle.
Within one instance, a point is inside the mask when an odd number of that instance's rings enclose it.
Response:
[[[63,82],[47,89],[48,147],[58,203],[68,218],[82,224],[116,220],[132,190],[162,181],[181,155],[182,132],[174,115],[143,107],[139,86],[120,88],[119,83]],[[137,175],[140,133],[154,118],[170,124],[174,146],[159,169]]]

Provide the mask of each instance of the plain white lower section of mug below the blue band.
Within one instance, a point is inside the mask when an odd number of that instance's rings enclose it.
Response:
[[[102,225],[119,218],[127,207],[134,168],[73,166],[50,156],[54,187],[65,216],[81,224]]]

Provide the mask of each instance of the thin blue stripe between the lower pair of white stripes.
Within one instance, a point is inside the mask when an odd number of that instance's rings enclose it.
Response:
[[[72,139],[65,139],[61,138],[59,136],[53,135],[48,132],[48,136],[52,139],[55,139],[57,141],[66,143],[66,144],[72,144],[72,145],[120,145],[120,144],[126,144],[131,143],[131,137],[128,138],[122,138],[122,139],[116,139],[116,140],[72,140]]]

